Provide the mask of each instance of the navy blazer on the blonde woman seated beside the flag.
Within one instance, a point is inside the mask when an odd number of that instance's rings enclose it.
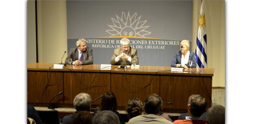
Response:
[[[191,68],[196,68],[196,57],[194,55],[194,52],[190,51],[190,56],[188,60],[193,60]],[[175,53],[174,58],[172,59],[171,67],[176,67],[176,64],[181,64],[181,51],[177,51]],[[190,68],[190,65],[187,63],[185,64],[188,68]]]

